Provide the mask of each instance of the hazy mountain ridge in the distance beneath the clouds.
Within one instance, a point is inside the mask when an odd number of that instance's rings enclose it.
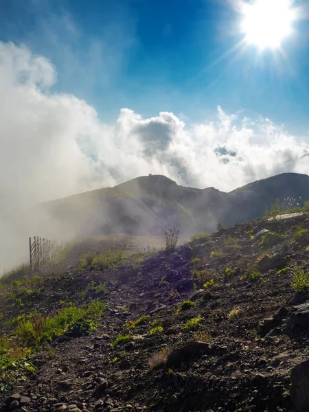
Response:
[[[297,199],[295,205],[302,206],[309,200],[309,176],[279,174],[229,193],[213,187],[183,187],[165,176],[141,176],[115,187],[44,203],[39,209],[47,212],[47,222],[52,218],[53,228],[55,222],[58,231],[78,236],[162,234],[167,225],[190,235],[212,232],[218,222],[230,227],[262,217],[276,198]]]

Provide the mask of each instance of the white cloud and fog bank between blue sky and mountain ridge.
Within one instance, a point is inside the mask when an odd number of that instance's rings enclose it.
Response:
[[[269,119],[227,115],[219,106],[216,122],[185,124],[174,113],[144,119],[122,108],[115,124],[104,124],[89,103],[54,92],[56,81],[44,56],[0,42],[0,273],[27,258],[32,225],[46,236],[41,216],[21,214],[38,202],[150,172],[223,191],[281,172],[308,173],[308,143]],[[8,218],[17,211],[19,220]],[[57,225],[50,221],[49,234]]]

